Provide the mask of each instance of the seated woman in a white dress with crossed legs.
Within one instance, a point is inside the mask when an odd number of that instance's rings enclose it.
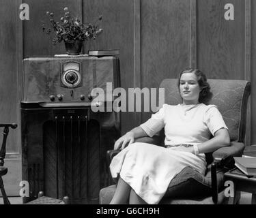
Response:
[[[229,145],[221,113],[216,106],[205,105],[212,97],[206,76],[199,69],[185,69],[178,85],[182,104],[164,104],[151,119],[115,142],[114,149],[122,151],[110,165],[113,178],[119,177],[111,204],[158,204],[184,167],[205,174],[204,153]],[[166,147],[133,143],[135,138],[154,136],[163,127]]]

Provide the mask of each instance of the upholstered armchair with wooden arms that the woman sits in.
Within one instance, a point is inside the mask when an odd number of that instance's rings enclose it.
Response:
[[[225,201],[223,175],[233,168],[233,157],[241,156],[244,151],[246,132],[246,112],[248,97],[251,94],[251,82],[244,80],[208,79],[213,97],[209,104],[218,107],[231,139],[230,146],[222,147],[213,153],[206,153],[208,169],[199,174],[189,166],[177,174],[167,189],[160,204],[222,204]],[[180,98],[177,79],[165,79],[160,84],[165,88],[165,104],[179,104]],[[164,131],[159,136],[144,137],[137,142],[148,142],[163,146]],[[118,151],[108,151],[108,164]],[[109,204],[115,193],[116,185],[100,190],[100,204]],[[191,188],[193,187],[193,188]]]

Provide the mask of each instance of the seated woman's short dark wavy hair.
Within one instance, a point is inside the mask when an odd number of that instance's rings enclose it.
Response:
[[[180,74],[179,74],[179,79],[178,79],[178,87],[180,90],[180,78],[182,77],[182,74],[185,73],[194,73],[195,76],[197,76],[197,82],[199,84],[199,87],[201,88],[201,92],[199,93],[199,103],[203,104],[208,104],[210,102],[210,99],[212,99],[212,92],[210,91],[211,87],[210,84],[207,82],[207,78],[203,72],[201,72],[199,69],[193,69],[193,68],[187,68],[184,69]]]

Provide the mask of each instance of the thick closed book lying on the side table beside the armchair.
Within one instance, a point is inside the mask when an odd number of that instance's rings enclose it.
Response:
[[[234,157],[236,167],[247,176],[256,176],[256,157]]]

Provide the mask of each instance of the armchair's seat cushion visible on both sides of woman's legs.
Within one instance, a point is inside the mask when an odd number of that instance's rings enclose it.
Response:
[[[217,183],[220,188],[223,187],[223,174],[224,172],[221,170],[217,173]],[[203,175],[187,166],[173,178],[160,204],[182,204],[181,202],[184,204],[210,204],[212,202],[211,183],[210,169],[208,169],[206,175]],[[100,204],[109,204],[114,196],[115,189],[116,185],[101,189]],[[188,200],[182,200],[182,198]]]

